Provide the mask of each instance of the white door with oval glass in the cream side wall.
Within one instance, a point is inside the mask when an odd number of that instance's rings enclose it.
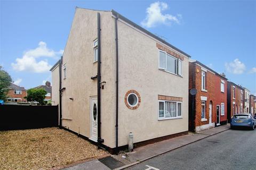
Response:
[[[98,139],[98,99],[91,98],[91,140],[97,142]]]

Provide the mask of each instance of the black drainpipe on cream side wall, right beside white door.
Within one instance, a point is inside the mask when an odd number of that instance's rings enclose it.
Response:
[[[101,58],[100,58],[100,13],[98,13],[98,73],[97,73],[97,80],[98,80],[98,143],[99,147],[101,146],[101,143],[104,142],[103,139],[101,139],[101,121],[100,121],[100,111],[101,111],[101,103],[100,103],[100,98],[101,98],[101,91],[100,91],[100,86],[101,86],[101,71],[100,71],[100,66],[101,66]]]

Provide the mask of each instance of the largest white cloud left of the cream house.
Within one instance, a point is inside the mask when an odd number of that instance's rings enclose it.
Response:
[[[40,41],[38,47],[27,50],[21,58],[16,58],[16,63],[11,63],[13,70],[16,71],[30,71],[35,73],[47,72],[51,69],[51,65],[47,60],[36,61],[39,57],[58,57],[62,55],[63,50],[54,52],[54,50],[47,48],[46,43]]]

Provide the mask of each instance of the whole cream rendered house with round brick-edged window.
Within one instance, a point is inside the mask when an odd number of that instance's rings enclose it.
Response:
[[[114,10],[76,8],[51,69],[60,126],[111,152],[130,132],[137,146],[187,134],[189,57]]]

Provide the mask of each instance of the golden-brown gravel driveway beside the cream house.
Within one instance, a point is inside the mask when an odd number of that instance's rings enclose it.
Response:
[[[58,128],[0,131],[0,169],[49,169],[108,154]]]

